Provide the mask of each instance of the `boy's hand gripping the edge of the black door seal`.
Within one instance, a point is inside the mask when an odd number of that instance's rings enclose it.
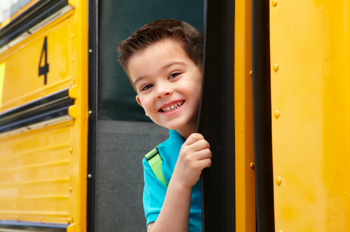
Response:
[[[212,164],[209,148],[203,135],[191,134],[180,149],[172,179],[175,178],[175,182],[184,187],[192,188],[199,180],[202,170]]]

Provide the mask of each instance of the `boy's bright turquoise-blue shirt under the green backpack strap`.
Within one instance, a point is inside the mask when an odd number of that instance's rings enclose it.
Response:
[[[162,159],[163,175],[167,183],[173,175],[175,164],[180,148],[185,141],[176,130],[170,130],[169,139],[158,146],[158,152]],[[154,175],[148,161],[143,159],[145,188],[143,190],[143,207],[147,219],[147,225],[154,222],[162,208],[167,187],[163,185]],[[192,188],[191,209],[190,209],[190,232],[202,231],[202,209],[200,198],[200,181]]]

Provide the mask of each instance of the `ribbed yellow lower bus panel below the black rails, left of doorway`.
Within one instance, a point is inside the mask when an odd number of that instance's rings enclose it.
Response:
[[[72,121],[1,140],[2,219],[67,223]]]

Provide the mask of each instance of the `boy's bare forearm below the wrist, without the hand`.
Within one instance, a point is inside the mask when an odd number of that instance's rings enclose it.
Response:
[[[173,176],[174,177],[174,176]],[[192,188],[172,178],[169,182],[162,209],[148,232],[187,232]]]

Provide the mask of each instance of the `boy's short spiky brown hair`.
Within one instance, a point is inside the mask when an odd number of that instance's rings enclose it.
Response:
[[[156,20],[136,30],[131,36],[119,42],[118,62],[127,73],[132,86],[135,88],[129,73],[128,62],[133,54],[147,48],[149,45],[165,40],[180,43],[189,58],[196,63],[199,70],[203,66],[203,34],[194,26],[175,19]]]

